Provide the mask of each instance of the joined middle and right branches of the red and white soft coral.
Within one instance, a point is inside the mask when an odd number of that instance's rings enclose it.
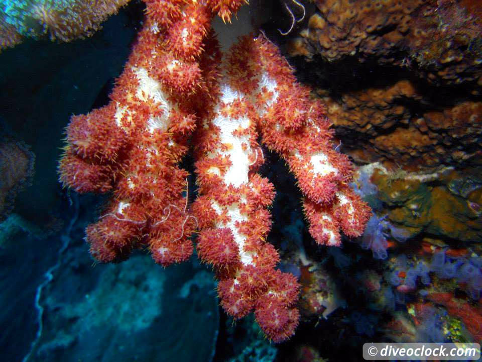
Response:
[[[339,229],[363,232],[370,209],[346,187],[348,158],[333,150],[323,107],[296,82],[278,49],[264,36],[245,37],[224,62],[220,96],[194,137],[200,197],[199,257],[214,266],[224,310],[240,318],[255,310],[263,331],[279,342],[294,333],[299,285],[274,267],[278,254],[264,242],[273,185],[256,173],[257,142],[278,151],[305,194],[310,231],[318,243],[339,245]]]

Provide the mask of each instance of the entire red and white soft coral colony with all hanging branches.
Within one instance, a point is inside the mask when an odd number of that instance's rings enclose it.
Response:
[[[352,166],[334,147],[323,106],[277,47],[264,35],[244,37],[221,56],[210,21],[229,20],[243,1],[145,3],[144,27],[110,103],[67,127],[61,182],[112,194],[86,229],[97,260],[147,247],[161,265],[184,261],[198,229],[197,253],[214,268],[226,313],[254,310],[265,334],[283,341],[298,324],[299,285],[275,268],[278,252],[265,241],[275,190],[257,173],[258,140],[296,175],[319,244],[340,245],[340,230],[362,234],[370,209],[347,186]],[[179,162],[189,147],[198,198],[188,207]]]

